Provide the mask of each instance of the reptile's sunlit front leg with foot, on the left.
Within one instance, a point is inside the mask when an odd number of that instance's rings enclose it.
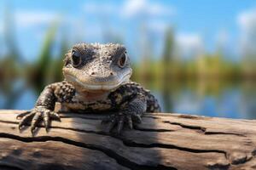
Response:
[[[60,116],[54,112],[55,102],[55,84],[51,84],[44,88],[35,107],[31,111],[26,111],[17,116],[17,119],[21,119],[19,129],[31,123],[31,132],[33,133],[38,124],[43,120],[44,127],[48,131],[50,119],[60,121]]]

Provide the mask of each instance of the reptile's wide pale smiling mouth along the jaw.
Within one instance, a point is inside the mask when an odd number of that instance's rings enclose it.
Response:
[[[75,83],[79,84],[79,86],[84,88],[84,90],[90,90],[90,91],[95,91],[95,90],[109,91],[109,90],[113,90],[113,89],[119,88],[119,86],[122,83],[127,82],[129,80],[129,78],[131,77],[131,73],[128,73],[128,74],[126,74],[125,76],[123,76],[121,78],[118,78],[118,80],[115,80],[114,82],[105,81],[105,82],[91,83],[91,80],[90,80],[90,82],[84,82],[84,81],[79,80],[77,77],[74,77],[71,74],[66,74],[65,77],[67,78],[67,81],[75,82]]]

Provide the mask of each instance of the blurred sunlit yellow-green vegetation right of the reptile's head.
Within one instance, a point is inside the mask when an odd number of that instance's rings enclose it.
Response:
[[[135,78],[142,78],[150,81],[166,80],[242,80],[254,79],[256,77],[256,54],[244,56],[241,61],[226,59],[224,54],[216,51],[212,54],[200,54],[190,59],[182,59],[173,54],[174,35],[171,30],[166,32],[165,48],[160,59],[151,61],[141,60],[134,65]],[[141,65],[147,63],[147,69]]]

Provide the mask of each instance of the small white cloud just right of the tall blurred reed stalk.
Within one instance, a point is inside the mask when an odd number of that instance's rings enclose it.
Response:
[[[203,41],[199,34],[178,33],[176,43],[178,53],[184,57],[196,56],[203,52]]]

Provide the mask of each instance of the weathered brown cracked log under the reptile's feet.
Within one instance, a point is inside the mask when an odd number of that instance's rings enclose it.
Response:
[[[109,134],[104,115],[61,114],[32,136],[0,111],[0,169],[256,169],[256,121],[145,114]]]

